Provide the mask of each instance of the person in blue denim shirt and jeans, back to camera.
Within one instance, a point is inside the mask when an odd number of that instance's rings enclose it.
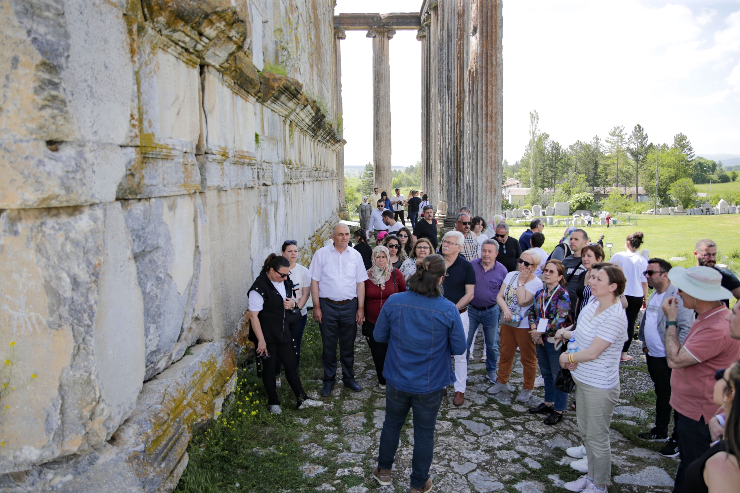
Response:
[[[441,255],[429,255],[408,278],[408,291],[388,297],[375,323],[373,337],[388,343],[386,420],[380,432],[377,466],[372,477],[391,484],[401,426],[414,409],[414,455],[409,493],[431,490],[429,467],[434,455],[434,426],[445,387],[455,381],[451,355],[465,354],[460,313],[442,296],[446,272]]]

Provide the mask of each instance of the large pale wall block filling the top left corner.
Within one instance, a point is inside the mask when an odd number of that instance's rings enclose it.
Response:
[[[136,98],[121,3],[4,3],[0,139],[127,141]]]

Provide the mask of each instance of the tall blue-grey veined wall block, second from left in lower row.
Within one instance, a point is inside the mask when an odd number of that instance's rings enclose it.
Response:
[[[196,230],[198,225],[202,229],[206,220],[202,207],[200,214],[196,213],[196,203],[200,203],[198,194],[124,203],[138,282],[144,294],[147,379],[182,356],[186,341],[175,348],[181,335],[190,344],[195,343],[208,312],[209,304],[203,300],[195,310],[198,291],[206,290],[206,295],[209,292],[199,278],[201,252],[196,250]],[[194,322],[195,329],[190,330]],[[186,335],[189,331],[195,334]]]

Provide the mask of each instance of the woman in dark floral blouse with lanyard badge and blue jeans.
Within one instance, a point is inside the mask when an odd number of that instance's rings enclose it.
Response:
[[[533,414],[546,414],[545,424],[562,421],[562,412],[568,404],[568,394],[555,388],[555,377],[560,370],[560,349],[555,349],[555,332],[565,324],[571,300],[565,283],[565,268],[559,260],[550,260],[542,268],[545,286],[534,295],[534,304],[528,311],[531,336],[537,350],[539,373],[545,380],[545,402],[529,409]],[[538,330],[539,329],[539,330]]]

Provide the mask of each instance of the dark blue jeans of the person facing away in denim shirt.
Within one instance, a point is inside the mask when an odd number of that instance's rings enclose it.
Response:
[[[429,479],[429,467],[434,455],[434,426],[445,390],[428,394],[412,394],[386,384],[386,421],[380,432],[377,455],[378,469],[391,469],[401,437],[401,426],[406,423],[408,410],[414,409],[414,455],[411,458],[411,488],[421,488]]]

